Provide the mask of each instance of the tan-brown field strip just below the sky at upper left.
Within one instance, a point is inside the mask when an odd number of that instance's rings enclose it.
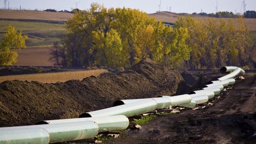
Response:
[[[68,12],[46,12],[46,11],[0,9],[0,18],[8,18],[8,19],[67,21],[68,18],[71,18],[71,17],[73,17],[73,14]]]

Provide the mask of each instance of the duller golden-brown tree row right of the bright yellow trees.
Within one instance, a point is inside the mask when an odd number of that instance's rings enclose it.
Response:
[[[242,18],[238,24],[210,18],[206,22],[181,17],[175,27],[188,28],[190,68],[220,68],[225,65],[246,66],[250,63],[249,31]]]

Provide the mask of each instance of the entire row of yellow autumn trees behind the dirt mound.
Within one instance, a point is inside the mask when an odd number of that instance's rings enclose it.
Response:
[[[144,57],[172,68],[219,68],[248,64],[249,37],[242,19],[181,17],[175,27],[130,8],[92,4],[76,12],[66,24],[62,43],[55,43],[52,59],[63,66],[129,67]]]

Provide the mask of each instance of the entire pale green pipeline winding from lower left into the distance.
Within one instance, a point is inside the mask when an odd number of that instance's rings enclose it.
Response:
[[[156,108],[193,108],[220,94],[224,87],[235,84],[234,78],[245,73],[236,66],[225,66],[220,72],[231,73],[190,94],[117,100],[113,107],[83,113],[78,119],[44,120],[32,126],[0,127],[0,143],[56,143],[89,139],[99,132],[127,129],[127,117],[148,113]]]

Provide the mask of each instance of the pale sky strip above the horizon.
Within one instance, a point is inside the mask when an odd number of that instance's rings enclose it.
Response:
[[[161,11],[177,13],[206,12],[215,13],[216,3],[218,11],[243,12],[243,0],[8,0],[9,8],[38,9],[47,8],[57,11],[66,9],[71,11],[73,8],[88,9],[92,2],[103,4],[105,7],[127,7],[140,9],[149,14],[159,10],[158,5],[161,1]],[[256,11],[256,0],[245,0],[246,10]],[[0,0],[0,8],[4,8],[4,0]]]

